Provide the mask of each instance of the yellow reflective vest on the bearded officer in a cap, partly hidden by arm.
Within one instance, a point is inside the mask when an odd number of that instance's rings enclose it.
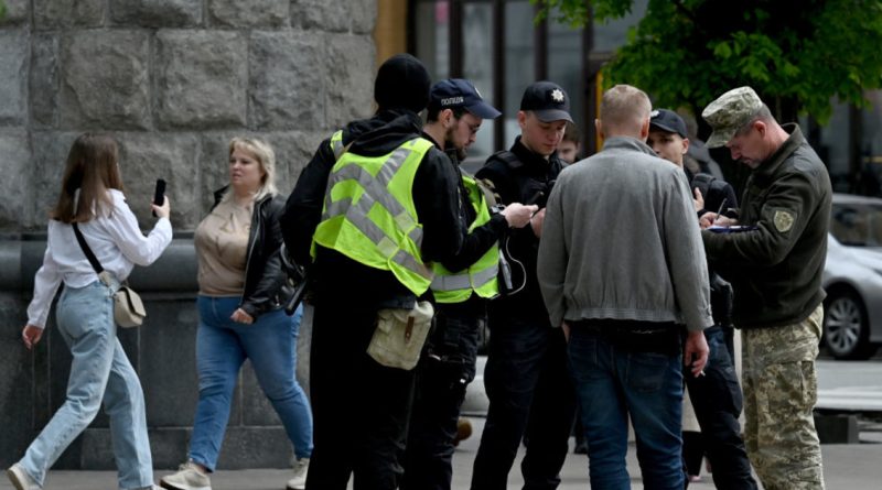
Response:
[[[469,227],[469,232],[471,232],[490,221],[490,206],[474,178],[463,175],[462,181],[469,190],[469,200],[477,213],[477,217]],[[469,300],[472,293],[485,298],[499,294],[499,286],[496,282],[496,274],[499,270],[498,243],[491,247],[477,262],[462,271],[451,272],[437,262],[432,263],[432,269],[435,275],[431,287],[438,303],[462,303]]]

